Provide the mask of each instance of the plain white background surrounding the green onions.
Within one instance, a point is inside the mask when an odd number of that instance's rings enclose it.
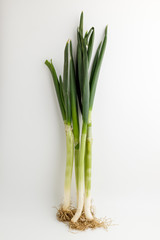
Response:
[[[44,61],[62,72],[81,10],[95,47],[108,24],[92,196],[97,216],[118,225],[73,234],[52,208],[63,199],[65,134]],[[1,0],[0,36],[0,239],[159,239],[160,1]]]

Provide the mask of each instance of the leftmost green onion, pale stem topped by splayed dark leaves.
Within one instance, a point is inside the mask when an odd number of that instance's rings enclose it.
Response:
[[[67,210],[70,207],[70,194],[71,194],[71,179],[72,179],[72,169],[73,169],[73,147],[74,139],[71,126],[71,79],[70,79],[70,52],[69,52],[69,42],[67,42],[65,51],[64,51],[64,71],[63,71],[63,81],[61,76],[59,81],[55,68],[52,64],[52,61],[49,62],[46,60],[45,64],[48,66],[52,77],[53,82],[61,109],[62,117],[65,125],[66,132],[66,170],[65,170],[65,184],[64,184],[64,202],[63,209]]]

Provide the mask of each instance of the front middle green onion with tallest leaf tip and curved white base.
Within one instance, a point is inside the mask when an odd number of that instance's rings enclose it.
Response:
[[[89,113],[89,75],[88,75],[88,52],[83,38],[83,13],[80,18],[80,26],[77,31],[78,46],[77,46],[77,62],[78,62],[78,81],[80,87],[81,98],[79,101],[82,106],[82,132],[81,132],[81,144],[78,159],[78,176],[77,176],[77,211],[72,218],[72,222],[77,222],[81,216],[84,205],[84,164],[85,164],[85,150],[86,150],[86,138],[87,138],[87,124]]]

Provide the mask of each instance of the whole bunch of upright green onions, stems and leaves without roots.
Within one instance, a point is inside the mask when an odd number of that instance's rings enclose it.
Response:
[[[46,60],[59,102],[66,133],[66,171],[63,210],[70,208],[71,180],[75,161],[77,210],[72,222],[77,222],[84,209],[86,219],[91,213],[91,165],[92,165],[92,109],[99,72],[107,43],[107,26],[104,38],[98,45],[92,60],[95,30],[83,33],[83,12],[77,28],[76,59],[72,54],[72,42],[68,40],[64,50],[63,78],[58,77],[51,61]],[[81,117],[80,117],[81,116]],[[80,121],[81,120],[81,121]]]

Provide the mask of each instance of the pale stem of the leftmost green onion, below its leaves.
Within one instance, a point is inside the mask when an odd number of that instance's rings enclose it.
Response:
[[[64,203],[63,210],[67,210],[70,207],[70,195],[71,195],[71,180],[73,170],[73,152],[74,152],[74,140],[73,132],[70,125],[65,125],[66,132],[66,170],[65,170],[65,184],[64,184]]]

